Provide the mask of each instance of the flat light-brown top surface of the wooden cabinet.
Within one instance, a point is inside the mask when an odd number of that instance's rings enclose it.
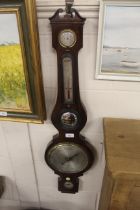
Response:
[[[109,170],[140,174],[140,121],[104,119],[104,132]]]

